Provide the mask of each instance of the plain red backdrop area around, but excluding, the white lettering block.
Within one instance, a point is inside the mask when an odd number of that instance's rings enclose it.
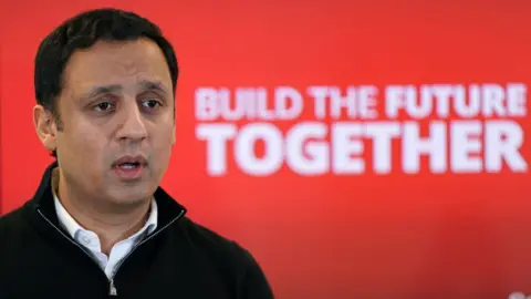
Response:
[[[230,168],[212,178],[194,120],[197,86],[529,86],[529,1],[2,1],[2,213],[32,196],[51,162],[31,121],[39,42],[73,13],[111,4],[157,22],[180,61],[178,144],[163,186],[249,248],[278,298],[531,293],[528,173],[253,178]],[[520,123],[529,163],[531,123]]]

